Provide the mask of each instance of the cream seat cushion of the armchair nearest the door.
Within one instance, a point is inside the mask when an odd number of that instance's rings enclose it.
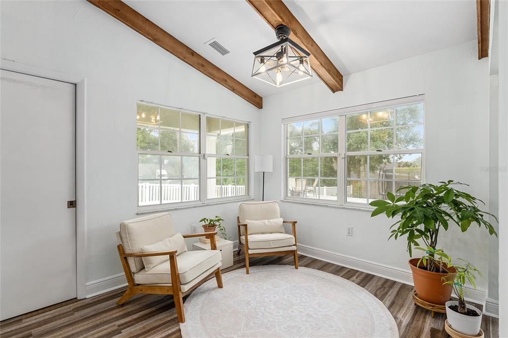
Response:
[[[188,283],[211,267],[219,264],[221,255],[218,250],[197,250],[187,251],[176,259],[178,264],[178,275],[180,283]],[[169,262],[163,262],[146,271],[142,269],[134,274],[136,284],[167,284],[171,283],[171,272]]]

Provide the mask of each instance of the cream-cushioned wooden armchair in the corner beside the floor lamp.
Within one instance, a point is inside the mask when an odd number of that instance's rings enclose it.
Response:
[[[238,206],[238,254],[245,253],[245,272],[249,273],[249,257],[293,255],[295,268],[298,268],[298,249],[296,239],[297,221],[282,220],[291,224],[292,234],[281,232],[251,233],[249,221],[275,220],[280,218],[277,201],[246,202]]]

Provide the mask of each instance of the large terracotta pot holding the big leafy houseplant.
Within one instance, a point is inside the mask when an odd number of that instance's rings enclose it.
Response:
[[[427,271],[423,266],[423,262],[420,263],[420,266],[424,268],[419,268],[417,267],[419,260],[420,258],[409,259],[409,266],[411,267],[416,293],[422,300],[429,303],[445,305],[452,295],[452,286],[448,284],[443,285],[443,283],[447,279],[453,279],[455,276],[450,276],[443,280],[442,278],[446,277],[448,274]],[[446,268],[446,270],[451,273],[455,272],[454,267]]]

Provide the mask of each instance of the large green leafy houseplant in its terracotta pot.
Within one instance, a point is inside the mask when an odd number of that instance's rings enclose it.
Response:
[[[446,231],[449,225],[457,225],[462,232],[467,231],[471,224],[484,226],[489,234],[497,233],[486,219],[488,212],[482,211],[479,204],[484,202],[467,192],[457,190],[457,186],[466,185],[449,180],[438,185],[423,184],[404,186],[397,190],[397,197],[387,193],[388,200],[374,200],[370,205],[376,207],[371,217],[385,214],[388,218],[400,217],[391,227],[390,238],[397,240],[405,236],[407,251],[412,257],[413,247],[420,247],[420,242],[428,247],[428,259],[423,264],[419,259],[410,259],[409,265],[418,295],[425,301],[444,305],[449,300],[452,288],[442,285],[442,278],[453,273],[446,265],[439,262],[436,256],[439,233]],[[494,215],[491,215],[495,218]],[[497,219],[496,219],[497,221]],[[449,278],[452,278],[449,275]],[[433,280],[434,284],[429,284]]]

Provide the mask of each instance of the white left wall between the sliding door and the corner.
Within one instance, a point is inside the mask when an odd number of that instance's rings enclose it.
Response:
[[[86,78],[86,281],[120,274],[114,232],[136,217],[136,100],[251,121],[255,145],[259,110],[85,1],[2,1],[1,12],[2,59]],[[236,239],[236,202],[171,214],[182,233],[221,215]]]

